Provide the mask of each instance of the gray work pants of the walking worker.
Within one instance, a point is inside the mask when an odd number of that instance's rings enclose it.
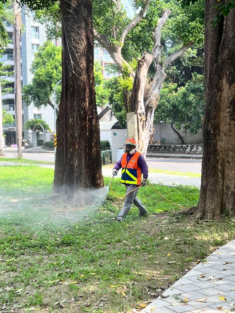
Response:
[[[127,190],[127,192],[126,192],[126,194],[127,194],[128,192],[132,191],[133,189],[135,189],[138,186],[136,186],[136,185],[125,185],[125,187]],[[122,220],[122,221],[124,220],[125,216],[130,211],[132,203],[134,203],[134,205],[139,209],[139,215],[147,213],[147,210],[144,207],[144,204],[142,203],[142,201],[136,197],[138,190],[139,189],[131,192],[129,195],[127,195],[125,197],[125,202],[124,202],[123,208],[122,208],[121,212],[118,214],[119,220]]]

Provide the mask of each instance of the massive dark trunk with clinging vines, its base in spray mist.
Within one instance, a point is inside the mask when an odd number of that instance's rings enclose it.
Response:
[[[61,1],[62,90],[53,191],[103,187],[94,88],[91,0]],[[79,31],[78,31],[79,30]]]

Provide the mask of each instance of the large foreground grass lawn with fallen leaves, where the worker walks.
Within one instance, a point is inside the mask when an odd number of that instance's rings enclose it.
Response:
[[[179,208],[149,187],[138,193],[148,218],[138,219],[133,207],[117,223],[123,200],[111,193],[84,214],[44,214],[73,206],[50,197],[53,170],[35,165],[0,170],[0,303],[6,312],[132,312],[233,238],[233,222],[173,214]],[[184,206],[196,205],[199,197],[195,187],[154,188]],[[119,179],[113,189],[124,194]]]

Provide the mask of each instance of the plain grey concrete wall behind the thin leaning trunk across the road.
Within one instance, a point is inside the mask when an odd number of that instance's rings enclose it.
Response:
[[[175,125],[174,125],[175,127]],[[153,135],[154,137],[154,142],[158,142],[162,138],[165,138],[165,144],[166,145],[180,145],[180,138],[176,135],[176,133],[171,129],[171,126],[167,123],[157,123],[154,124],[154,129],[155,129],[155,134]],[[194,136],[191,134],[191,132],[185,131],[182,127],[181,130],[177,130],[180,135],[183,137],[185,144],[190,145],[190,144],[201,144],[203,143],[202,139],[202,130],[199,129],[198,133]]]

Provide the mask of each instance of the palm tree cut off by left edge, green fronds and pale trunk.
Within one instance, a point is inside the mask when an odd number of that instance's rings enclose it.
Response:
[[[5,48],[8,45],[8,33],[4,20],[14,23],[14,15],[10,8],[11,1],[0,3],[0,48]],[[0,65],[1,67],[1,65]],[[3,107],[1,95],[1,73],[0,73],[0,156],[3,156]]]

